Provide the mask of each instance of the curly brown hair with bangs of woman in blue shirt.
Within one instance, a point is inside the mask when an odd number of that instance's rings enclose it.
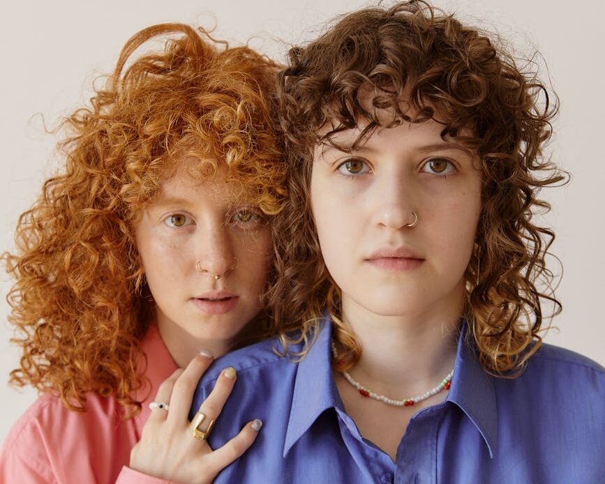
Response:
[[[425,1],[410,1],[345,15],[317,40],[290,50],[278,81],[290,201],[276,222],[281,278],[271,289],[286,348],[301,341],[308,348],[327,308],[335,324],[336,368],[348,370],[361,355],[341,321],[340,290],[313,224],[315,146],[334,144],[334,134],[360,121],[367,127],[357,143],[378,126],[435,119],[445,124],[444,139],[456,137],[480,158],[482,211],[465,272],[463,316],[481,364],[512,376],[538,349],[541,302],[550,301],[553,314],[561,308],[545,264],[554,233],[533,219],[550,208],[537,198],[539,190],[565,178],[543,153],[557,102],[537,74],[523,72],[498,44]],[[364,109],[360,95],[371,90],[373,105]],[[385,121],[384,109],[395,118]],[[301,328],[299,337],[288,336]]]

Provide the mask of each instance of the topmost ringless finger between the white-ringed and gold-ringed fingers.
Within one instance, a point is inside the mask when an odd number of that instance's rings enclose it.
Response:
[[[211,354],[200,352],[189,362],[181,376],[174,382],[170,398],[170,412],[168,413],[170,422],[179,425],[187,424],[193,392],[197,387],[197,382],[200,381],[212,361],[214,361],[214,357]]]

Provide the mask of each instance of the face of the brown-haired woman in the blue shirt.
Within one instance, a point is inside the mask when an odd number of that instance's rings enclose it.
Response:
[[[474,154],[443,141],[443,128],[432,120],[402,123],[375,130],[350,153],[315,149],[313,218],[345,317],[461,310],[481,177]],[[334,139],[352,146],[358,135]]]

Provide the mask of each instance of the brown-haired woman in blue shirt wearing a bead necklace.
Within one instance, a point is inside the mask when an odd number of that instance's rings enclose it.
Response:
[[[290,50],[278,98],[281,338],[222,361],[241,380],[211,445],[265,425],[216,482],[602,482],[604,369],[540,339],[560,303],[534,215],[564,179],[544,85],[412,1]]]

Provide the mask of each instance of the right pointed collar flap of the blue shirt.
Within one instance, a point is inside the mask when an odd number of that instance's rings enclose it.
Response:
[[[471,341],[468,324],[463,322],[456,350],[454,377],[446,400],[456,404],[468,416],[479,430],[489,455],[493,458],[498,437],[498,409],[493,377],[481,368]]]

